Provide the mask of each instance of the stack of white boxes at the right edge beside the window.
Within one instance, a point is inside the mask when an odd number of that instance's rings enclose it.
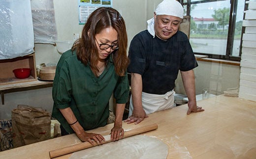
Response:
[[[256,1],[248,1],[245,11],[239,97],[256,101]]]

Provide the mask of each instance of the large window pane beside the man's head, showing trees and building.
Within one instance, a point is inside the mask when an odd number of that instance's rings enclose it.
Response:
[[[195,53],[226,54],[229,0],[192,4],[190,42]]]

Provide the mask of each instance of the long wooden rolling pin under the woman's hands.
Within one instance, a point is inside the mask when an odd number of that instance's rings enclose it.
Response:
[[[139,125],[137,125],[137,126],[139,126]],[[144,133],[144,132],[148,132],[151,130],[155,130],[157,128],[158,128],[157,124],[152,124],[152,125],[148,125],[148,126],[142,126],[142,127],[138,127],[135,129],[131,129],[131,130],[125,131],[123,138],[130,137],[130,136],[137,135],[137,134]],[[102,142],[102,144],[109,143],[109,142],[112,142],[112,140],[104,141],[104,142]],[[95,146],[98,146],[98,145],[95,145]],[[71,145],[68,147],[50,151],[49,155],[50,155],[50,158],[52,159],[52,158],[56,158],[56,157],[59,157],[62,155],[70,154],[70,153],[84,150],[84,149],[91,148],[91,147],[94,147],[94,146],[91,145],[89,142],[82,142],[82,143],[79,143],[76,145]]]

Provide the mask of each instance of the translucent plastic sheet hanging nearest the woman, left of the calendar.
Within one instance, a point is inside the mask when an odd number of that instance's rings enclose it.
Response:
[[[31,0],[35,43],[55,44],[57,29],[53,0]]]

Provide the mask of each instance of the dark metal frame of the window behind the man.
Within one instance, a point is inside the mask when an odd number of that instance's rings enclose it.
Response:
[[[186,2],[184,2],[186,1]],[[197,1],[191,1],[191,0],[180,0],[180,3],[183,6],[187,6],[187,16],[191,16],[191,5],[192,4],[198,4],[198,3],[206,3],[206,2],[214,2],[214,1],[222,1],[222,0],[197,0]],[[245,8],[244,10],[248,9],[248,3],[245,0]],[[230,0],[230,13],[229,13],[229,25],[228,25],[228,34],[227,34],[227,44],[226,44],[226,53],[225,55],[216,55],[216,54],[206,54],[206,53],[199,53],[194,52],[198,55],[207,55],[209,58],[213,59],[222,59],[222,60],[230,60],[230,61],[241,61],[241,54],[242,54],[242,39],[243,39],[243,33],[245,33],[245,27],[242,27],[241,31],[241,39],[240,39],[240,50],[239,50],[239,57],[237,56],[231,56],[233,52],[233,42],[234,42],[234,33],[235,33],[235,24],[236,24],[236,11],[237,11],[237,4],[238,0]],[[244,19],[245,14],[243,15]]]

